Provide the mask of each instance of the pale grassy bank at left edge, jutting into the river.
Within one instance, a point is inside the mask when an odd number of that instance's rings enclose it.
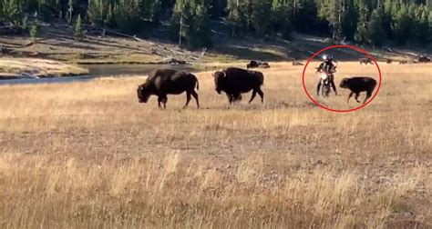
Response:
[[[0,80],[87,75],[84,67],[38,58],[0,58]]]

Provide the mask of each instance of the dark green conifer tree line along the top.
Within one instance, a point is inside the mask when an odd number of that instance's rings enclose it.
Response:
[[[328,35],[359,45],[430,45],[431,0],[3,0],[0,25],[79,17],[100,28],[144,32],[170,22],[170,38],[189,47],[211,45],[211,20],[230,35]],[[74,28],[78,30],[79,28]],[[79,31],[77,31],[79,32]],[[79,34],[79,33],[78,33]]]

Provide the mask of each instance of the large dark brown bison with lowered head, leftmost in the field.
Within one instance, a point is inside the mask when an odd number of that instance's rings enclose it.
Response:
[[[167,95],[180,95],[186,92],[186,105],[183,106],[183,109],[189,105],[190,95],[197,102],[197,108],[200,108],[195,86],[198,90],[199,83],[195,75],[173,69],[155,69],[149,74],[146,83],[138,86],[137,94],[139,103],[147,103],[150,95],[157,95],[159,108],[162,103],[165,109],[168,101]]]

